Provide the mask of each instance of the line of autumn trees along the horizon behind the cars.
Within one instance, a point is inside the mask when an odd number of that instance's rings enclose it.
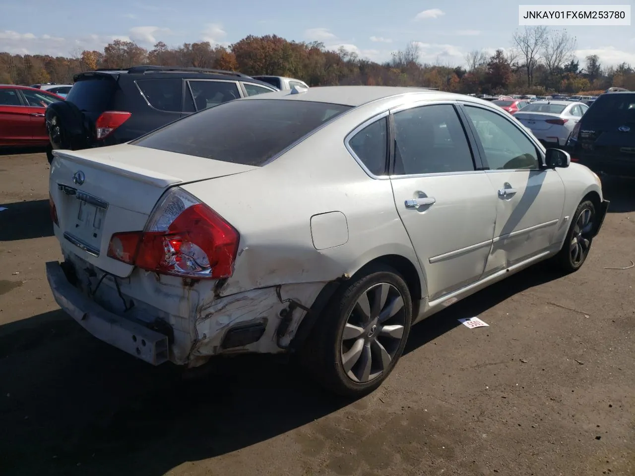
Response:
[[[176,48],[159,41],[151,50],[115,40],[104,51],[77,51],[70,57],[0,53],[0,84],[70,83],[77,72],[152,64],[297,77],[309,86],[366,84],[424,86],[458,93],[598,93],[618,86],[635,89],[635,69],[627,63],[603,67],[598,56],[575,58],[577,41],[566,30],[525,27],[514,32],[511,48],[488,55],[471,51],[464,66],[420,62],[411,42],[384,63],[360,58],[320,42],[287,41],[276,35],[247,36],[224,48],[208,42]]]

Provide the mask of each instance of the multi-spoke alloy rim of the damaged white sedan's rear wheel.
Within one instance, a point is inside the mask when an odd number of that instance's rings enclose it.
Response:
[[[342,333],[342,367],[352,381],[366,383],[389,368],[405,318],[403,296],[392,284],[375,284],[361,293]]]

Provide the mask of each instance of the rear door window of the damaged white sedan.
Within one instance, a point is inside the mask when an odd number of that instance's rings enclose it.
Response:
[[[452,105],[397,112],[394,129],[396,175],[474,170],[465,131]]]

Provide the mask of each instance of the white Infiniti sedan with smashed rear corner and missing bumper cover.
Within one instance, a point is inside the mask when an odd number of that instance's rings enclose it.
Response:
[[[580,268],[608,207],[497,106],[426,89],[278,91],[54,154],[46,272],[79,324],[151,364],[297,353],[348,395],[411,324],[547,258]]]

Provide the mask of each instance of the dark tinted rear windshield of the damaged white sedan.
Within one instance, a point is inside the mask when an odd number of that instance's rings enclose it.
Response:
[[[149,149],[262,166],[350,106],[297,100],[230,101],[131,142]]]

